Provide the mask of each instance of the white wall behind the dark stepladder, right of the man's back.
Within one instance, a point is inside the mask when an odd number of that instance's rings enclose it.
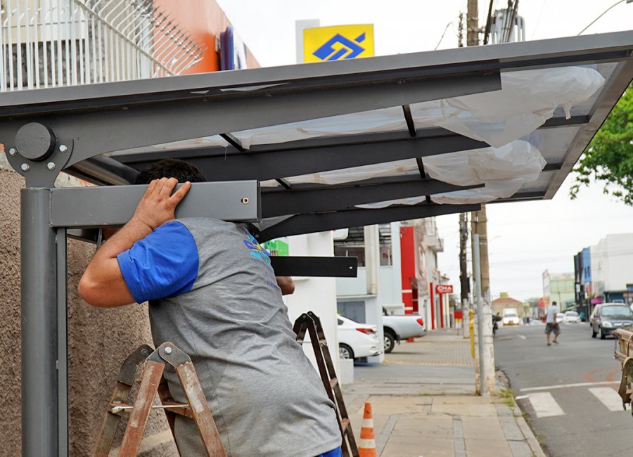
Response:
[[[310,233],[288,237],[289,255],[331,257],[334,245],[331,231]],[[294,323],[302,313],[312,311],[321,318],[324,333],[332,361],[337,373],[340,373],[338,356],[338,337],[336,335],[336,287],[334,278],[305,278],[295,276],[295,293],[286,295],[284,301],[288,305],[288,317]],[[316,368],[312,346],[305,343],[304,352]],[[318,368],[317,368],[318,369]]]

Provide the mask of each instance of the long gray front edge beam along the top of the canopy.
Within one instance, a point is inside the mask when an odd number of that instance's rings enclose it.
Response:
[[[61,110],[110,109],[122,105],[133,107],[143,103],[168,103],[227,94],[252,96],[273,89],[298,91],[317,84],[359,84],[375,81],[377,77],[437,77],[457,72],[582,65],[628,58],[632,48],[631,32],[625,31],[350,59],[319,65],[15,91],[0,94],[0,117]],[[225,130],[228,131],[234,130]]]

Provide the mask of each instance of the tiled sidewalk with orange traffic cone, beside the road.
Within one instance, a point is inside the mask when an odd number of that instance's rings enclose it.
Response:
[[[475,395],[470,342],[456,330],[403,342],[385,363],[357,364],[343,394],[357,439],[371,402],[378,456],[544,456],[513,400]]]

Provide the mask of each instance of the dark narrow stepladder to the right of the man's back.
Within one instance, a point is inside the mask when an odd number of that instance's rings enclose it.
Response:
[[[306,331],[310,336],[310,343],[312,349],[314,349],[314,357],[316,366],[319,368],[319,375],[321,375],[321,382],[323,382],[326,393],[335,406],[343,456],[358,457],[358,447],[354,438],[354,432],[352,432],[350,416],[347,414],[345,401],[343,401],[343,392],[340,390],[340,382],[334,371],[334,364],[328,349],[323,326],[321,326],[321,319],[312,311],[308,311],[297,318],[293,330],[297,335],[297,342],[301,345],[305,340]]]

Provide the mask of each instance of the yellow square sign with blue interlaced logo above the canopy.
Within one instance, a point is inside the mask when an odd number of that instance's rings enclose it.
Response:
[[[373,24],[303,30],[303,61],[324,62],[373,56]]]

